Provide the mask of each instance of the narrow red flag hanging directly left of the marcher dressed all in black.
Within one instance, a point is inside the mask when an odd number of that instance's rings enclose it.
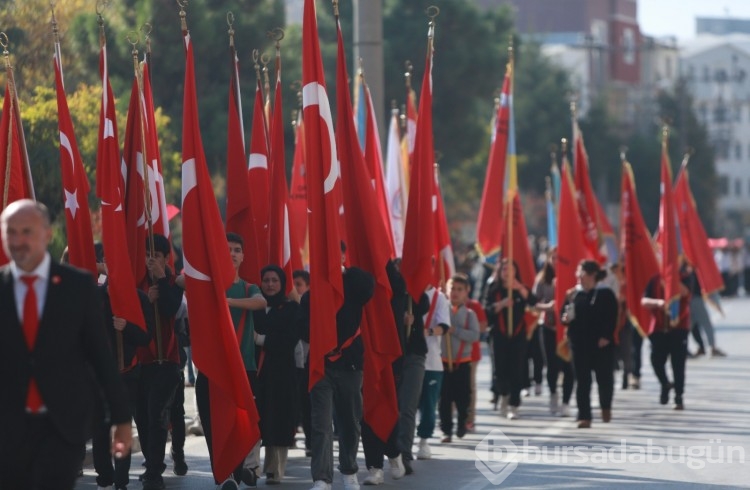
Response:
[[[577,209],[577,199],[573,176],[568,159],[563,156],[562,182],[560,186],[560,205],[557,232],[557,263],[555,264],[555,318],[557,319],[557,352],[569,359],[570,352],[565,349],[565,326],[560,322],[560,315],[565,295],[576,285],[576,269],[586,258],[586,247],[580,233],[581,215]]]

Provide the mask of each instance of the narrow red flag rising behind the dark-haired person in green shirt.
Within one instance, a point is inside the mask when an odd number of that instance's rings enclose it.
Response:
[[[260,269],[265,265],[258,257],[257,235],[254,232],[250,188],[245,166],[245,128],[242,124],[239,60],[234,45],[230,46],[231,77],[229,81],[229,113],[227,118],[227,223],[226,231],[237,233],[245,243],[245,260],[240,276],[260,284]]]

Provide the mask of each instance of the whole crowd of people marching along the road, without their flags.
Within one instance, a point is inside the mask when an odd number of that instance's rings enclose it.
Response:
[[[9,324],[5,320],[11,319],[10,328],[17,330],[9,335],[11,342],[0,346],[0,373],[8,374],[8,362],[18,357],[18,352],[30,359],[16,359],[18,365],[30,367],[20,376],[15,374],[17,367],[12,368],[14,375],[6,377],[12,380],[10,396],[0,402],[0,413],[7,416],[6,420],[19,421],[4,425],[0,437],[19,441],[18,447],[22,448],[14,452],[7,444],[2,445],[0,487],[72,488],[87,431],[83,422],[65,418],[72,413],[66,403],[81,403],[80,400],[87,408],[98,409],[98,415],[91,420],[96,421],[92,441],[100,489],[121,490],[130,483],[129,414],[134,417],[144,459],[142,487],[165,488],[162,475],[167,468],[170,431],[172,471],[185,475],[185,385],[193,383],[192,379],[185,379],[186,366],[192,367],[188,358],[190,305],[184,299],[179,260],[177,271],[169,265],[174,253],[169,240],[155,235],[153,250],[144,257],[138,297],[146,324],[140,326],[112,313],[106,257],[100,258],[98,291],[94,290],[93,281],[87,281],[80,272],[51,263],[46,251],[51,236],[49,218],[43,205],[19,201],[3,211],[0,221],[5,252],[11,259],[10,265],[0,270],[0,286],[4,288],[0,315],[5,325]],[[476,404],[481,395],[476,390],[476,371],[484,341],[491,358],[494,408],[499,416],[511,421],[523,416],[524,396],[543,393],[545,369],[550,415],[571,415],[570,399],[575,387],[576,426],[581,429],[592,427],[595,419],[591,408],[594,378],[604,423],[616,416],[618,366],[623,373],[622,387],[640,388],[642,335],[627,314],[622,270],[616,264],[605,268],[596,261],[582,261],[576,273],[577,285],[565,292],[563,305],[556,305],[554,249],[544,255],[534,284],[523,284],[517,265],[501,258],[486,280],[476,282],[467,274],[457,273],[446,281],[444,289],[430,286],[419,298],[409,297],[399,262],[391,261],[387,266],[393,291],[391,309],[402,351],[392,366],[399,414],[387,440],[381,440],[363,420],[363,365],[368,353],[360,323],[374,294],[372,275],[347,266],[346,245],[342,243],[344,302],[336,315],[337,347],[326,356],[322,379],[308,390],[311,294],[314,301],[309,273],[295,271],[289,278],[282,268],[271,264],[260,271],[261,284],[251,284],[239,274],[244,259],[243,239],[232,233],[226,239],[235,268],[234,283],[226,292],[227,304],[260,416],[261,439],[243,460],[231,462],[235,468],[231,474],[218,475],[215,483],[220,489],[236,489],[240,483],[255,487],[263,478],[266,484],[281,483],[288,450],[294,447],[300,427],[305,434],[314,489],[330,489],[334,481],[334,440],[338,441],[338,470],[346,489],[360,485],[360,440],[367,466],[363,484],[384,482],[386,457],[391,478],[411,475],[415,457],[431,458],[429,441],[437,427],[442,432],[441,444],[451,444],[454,437],[460,439],[477,430]],[[690,330],[697,329],[694,331],[700,337],[703,329],[712,354],[724,355],[716,347],[695,271],[684,264],[682,272],[676,308],[669,308],[658,275],[642,299],[642,305],[651,312],[651,324],[641,326],[641,330],[648,334],[651,364],[661,384],[658,402],[668,404],[672,398],[675,410],[685,408]],[[60,281],[77,286],[61,290],[57,287]],[[293,287],[287,287],[289,281],[293,281]],[[79,289],[83,291],[80,296]],[[85,303],[76,313],[82,318],[68,318],[77,303],[58,298],[63,293],[69,296],[74,290],[76,301]],[[47,338],[52,336],[45,328],[52,308],[60,310],[66,324],[81,329],[81,335],[61,344],[77,342],[69,346],[65,355],[75,357],[78,364],[64,364],[72,366],[70,369],[86,369],[81,366],[87,363],[96,367],[101,403],[90,400],[91,393],[82,393],[78,401],[59,400],[59,388],[64,385],[68,389],[70,378],[55,380],[53,374],[45,371],[47,366],[34,363],[37,350],[48,348]],[[34,335],[27,333],[30,323],[39,330],[38,348],[34,346]],[[14,347],[13,342],[19,346]],[[18,352],[11,354],[14,349]],[[117,353],[116,359],[112,353]],[[54,359],[54,355],[51,357]],[[668,360],[671,380],[666,369]],[[54,369],[59,370],[59,366]],[[80,379],[73,384],[85,392],[90,384],[84,381],[90,376],[78,374]],[[217,456],[212,447],[211,380],[199,371],[194,376],[199,419],[190,429],[205,436],[213,467]],[[110,436],[113,424],[117,427],[114,459]],[[40,447],[58,448],[66,454],[74,448],[79,456],[77,461],[63,458],[65,461],[52,463],[50,459],[54,458],[40,452]],[[65,468],[60,469],[63,464]],[[67,475],[62,483],[45,480],[49,465]],[[42,468],[35,477],[39,481],[27,482],[25,475],[36,474],[37,468]]]

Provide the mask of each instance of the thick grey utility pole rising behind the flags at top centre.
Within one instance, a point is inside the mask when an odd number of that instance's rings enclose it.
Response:
[[[352,64],[355,67],[352,76],[356,75],[356,67],[359,66],[361,58],[365,81],[370,88],[375,117],[378,120],[378,134],[380,134],[380,141],[385,142],[383,0],[353,0],[352,4],[354,7],[354,60]]]

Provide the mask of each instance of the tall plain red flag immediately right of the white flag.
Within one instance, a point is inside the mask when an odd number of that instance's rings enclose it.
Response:
[[[435,243],[426,237],[435,237],[435,148],[432,135],[432,39],[434,26],[430,24],[427,35],[422,93],[419,101],[419,123],[414,142],[409,178],[409,202],[406,209],[404,256],[401,273],[413,298],[419,298],[433,280]]]

